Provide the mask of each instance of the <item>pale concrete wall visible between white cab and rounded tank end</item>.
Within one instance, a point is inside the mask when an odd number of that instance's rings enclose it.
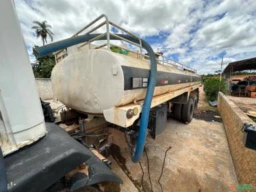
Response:
[[[53,90],[51,88],[51,79],[35,78],[39,96],[43,100],[53,99]]]

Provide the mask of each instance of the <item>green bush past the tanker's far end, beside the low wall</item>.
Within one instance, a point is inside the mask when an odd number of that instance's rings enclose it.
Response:
[[[226,93],[227,87],[225,81],[219,81],[218,78],[205,79],[203,82],[205,94],[209,101],[217,101],[219,86],[222,93]]]

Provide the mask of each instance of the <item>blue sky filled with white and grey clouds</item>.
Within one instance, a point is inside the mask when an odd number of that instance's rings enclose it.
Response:
[[[15,7],[31,62],[32,47],[43,45],[33,21],[46,20],[59,41],[103,13],[199,74],[219,70],[221,57],[223,69],[256,57],[255,0],[15,0]]]

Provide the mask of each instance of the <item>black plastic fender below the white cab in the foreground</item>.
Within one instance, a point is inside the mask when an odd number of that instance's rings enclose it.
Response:
[[[69,183],[71,189],[101,181],[122,183],[87,147],[59,126],[53,123],[46,123],[46,126],[48,133],[45,137],[5,157],[9,191],[44,191],[83,163],[89,166],[88,175],[73,175]]]

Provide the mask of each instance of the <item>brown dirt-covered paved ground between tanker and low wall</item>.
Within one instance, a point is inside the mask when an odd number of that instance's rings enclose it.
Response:
[[[123,184],[103,185],[102,190],[143,191],[144,187],[145,191],[151,191],[150,173],[152,191],[161,191],[158,179],[165,151],[171,147],[167,152],[160,181],[163,191],[231,191],[232,186],[237,184],[237,178],[225,130],[223,124],[218,122],[221,119],[217,110],[209,112],[202,90],[200,96],[196,118],[191,123],[185,125],[168,119],[165,131],[157,139],[147,136],[145,148],[149,168],[144,152],[141,158],[143,171],[139,163],[131,161],[131,151],[123,133],[119,133],[121,135],[118,139],[113,138],[114,143],[123,147],[115,149],[109,159],[113,163],[113,171],[123,179]]]

